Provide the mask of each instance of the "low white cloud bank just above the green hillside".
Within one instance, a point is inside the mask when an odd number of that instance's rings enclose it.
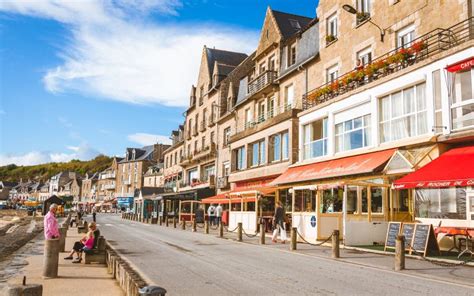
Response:
[[[0,154],[0,165],[35,165],[49,162],[68,162],[72,159],[90,160],[97,155],[99,151],[87,146],[68,146],[71,153],[32,151],[22,155]]]

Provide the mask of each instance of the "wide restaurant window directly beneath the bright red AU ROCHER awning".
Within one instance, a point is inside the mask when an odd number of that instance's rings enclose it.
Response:
[[[466,188],[430,188],[415,191],[419,218],[466,219]]]

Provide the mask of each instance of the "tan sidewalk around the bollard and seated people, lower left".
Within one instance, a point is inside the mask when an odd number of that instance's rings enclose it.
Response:
[[[78,241],[84,234],[78,234],[77,228],[68,230],[66,238],[66,250],[71,250],[75,241]],[[44,241],[38,241],[41,250],[44,248]],[[42,252],[41,252],[42,253]],[[104,264],[73,264],[70,260],[64,260],[67,253],[59,254],[59,277],[56,279],[43,279],[43,255],[34,255],[26,258],[28,265],[8,283],[21,284],[23,276],[29,284],[42,284],[43,295],[125,295],[112,275],[107,273]]]

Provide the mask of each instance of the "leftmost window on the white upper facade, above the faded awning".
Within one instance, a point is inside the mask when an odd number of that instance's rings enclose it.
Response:
[[[327,154],[327,118],[303,126],[303,159]]]

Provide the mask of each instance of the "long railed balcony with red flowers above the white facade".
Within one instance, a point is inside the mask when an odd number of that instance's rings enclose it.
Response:
[[[448,29],[435,29],[413,40],[410,47],[396,48],[374,59],[363,68],[345,73],[338,80],[309,91],[303,96],[303,110],[331,101],[472,40],[474,39],[473,32],[474,18],[469,18]]]

